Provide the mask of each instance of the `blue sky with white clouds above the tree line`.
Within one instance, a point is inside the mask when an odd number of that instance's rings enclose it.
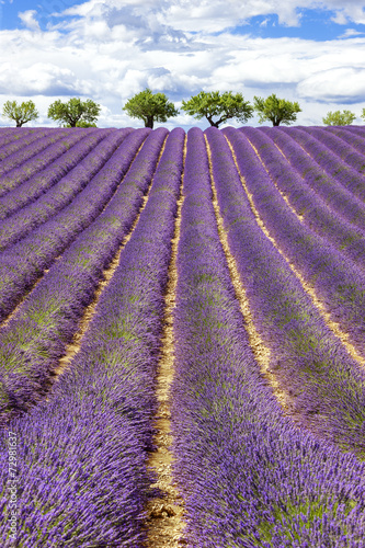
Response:
[[[361,124],[365,2],[0,0],[0,107],[32,99],[41,114],[33,125],[55,125],[53,101],[90,98],[102,105],[99,126],[137,127],[122,106],[146,87],[176,107],[201,90],[249,101],[274,92],[299,102],[298,124],[343,109]],[[208,123],[181,114],[166,125]]]

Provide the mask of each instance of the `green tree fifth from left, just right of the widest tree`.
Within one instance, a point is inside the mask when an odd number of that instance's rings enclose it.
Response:
[[[297,119],[297,113],[301,112],[299,103],[278,99],[275,93],[269,98],[254,96],[254,110],[259,113],[259,122],[272,122],[273,126],[280,124],[289,125]]]

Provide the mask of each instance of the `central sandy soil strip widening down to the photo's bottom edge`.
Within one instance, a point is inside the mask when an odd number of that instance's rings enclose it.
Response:
[[[186,136],[184,144],[184,163],[186,157]],[[166,309],[163,319],[163,334],[161,340],[161,355],[157,375],[158,410],[156,414],[157,434],[153,438],[156,450],[148,460],[148,468],[157,475],[157,481],[151,489],[159,489],[161,495],[151,499],[147,505],[147,543],[146,548],[178,548],[185,545],[183,538],[184,501],[173,481],[171,466],[173,454],[171,412],[169,392],[174,373],[174,338],[173,338],[173,308],[175,307],[175,289],[178,282],[176,256],[180,239],[181,208],[183,205],[183,173],[181,176],[180,197],[174,236],[171,240],[171,260],[169,265],[169,281],[166,290]]]

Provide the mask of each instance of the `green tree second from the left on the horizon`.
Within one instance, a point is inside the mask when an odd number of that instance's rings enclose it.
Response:
[[[48,118],[60,122],[64,127],[90,127],[85,124],[93,125],[100,110],[100,105],[91,99],[81,101],[81,99],[72,98],[67,103],[58,99],[49,105]]]

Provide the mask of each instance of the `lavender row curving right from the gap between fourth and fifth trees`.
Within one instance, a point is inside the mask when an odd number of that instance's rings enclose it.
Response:
[[[327,238],[340,251],[365,269],[365,232],[344,220],[300,178],[263,132],[246,128],[244,136],[258,151],[265,170],[288,198],[306,226]],[[365,207],[364,207],[365,221]]]

